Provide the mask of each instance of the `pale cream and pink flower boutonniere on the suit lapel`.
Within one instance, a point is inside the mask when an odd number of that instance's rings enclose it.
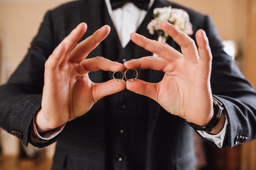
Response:
[[[151,35],[157,34],[157,40],[160,42],[166,42],[169,38],[169,35],[160,28],[160,22],[163,20],[177,26],[177,28],[187,35],[193,34],[189,14],[183,9],[172,8],[171,6],[155,8],[153,10],[153,17],[154,19],[148,23],[147,29]]]

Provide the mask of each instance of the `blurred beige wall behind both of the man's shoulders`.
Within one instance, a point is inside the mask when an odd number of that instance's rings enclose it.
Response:
[[[0,84],[27,53],[45,12],[68,0],[0,0]],[[235,40],[243,48],[245,5],[243,0],[173,0],[211,15],[220,37]]]

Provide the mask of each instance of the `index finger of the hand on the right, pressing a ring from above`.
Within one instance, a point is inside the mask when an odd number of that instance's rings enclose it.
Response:
[[[124,62],[125,68],[140,68],[140,69],[152,69],[152,70],[163,70],[163,68],[168,64],[168,61],[162,59],[161,57],[141,57],[138,59],[132,59]]]

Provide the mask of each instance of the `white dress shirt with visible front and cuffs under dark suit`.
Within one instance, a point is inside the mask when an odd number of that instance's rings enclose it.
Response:
[[[117,34],[121,42],[121,45],[123,48],[125,48],[125,46],[130,41],[130,33],[135,32],[138,29],[139,25],[144,20],[147,14],[147,11],[137,8],[131,2],[126,3],[121,8],[112,10],[110,0],[105,0],[105,2],[108,8],[108,13],[112,19],[115,29],[117,30]],[[152,6],[153,2],[154,0],[150,0],[148,9]],[[222,131],[217,135],[210,135],[209,133],[204,131],[198,131],[198,133],[202,135],[202,137],[204,137],[205,139],[208,139],[209,141],[214,142],[216,146],[221,148],[223,146],[227,124],[228,124],[228,121],[226,117],[225,126],[222,129]],[[35,123],[33,127],[34,127],[34,132],[38,138],[43,140],[49,140],[56,137],[63,130],[63,128],[65,127],[65,124],[59,127],[58,129],[56,129],[55,131],[44,133],[44,136],[40,136],[38,134]]]

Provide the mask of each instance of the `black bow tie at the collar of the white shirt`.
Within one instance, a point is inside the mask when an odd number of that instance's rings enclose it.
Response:
[[[125,3],[132,2],[138,8],[147,10],[150,0],[110,0],[112,9],[123,7]]]

